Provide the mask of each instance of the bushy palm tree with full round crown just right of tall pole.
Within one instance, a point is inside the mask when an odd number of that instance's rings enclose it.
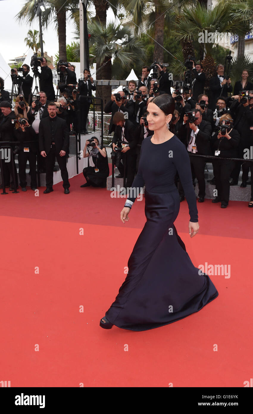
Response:
[[[96,79],[112,79],[112,59],[114,65],[131,66],[136,56],[140,61],[145,58],[143,43],[133,36],[129,27],[115,22],[107,25],[98,21],[88,24],[90,52],[96,57]],[[97,96],[104,102],[110,100],[111,86],[97,87]]]

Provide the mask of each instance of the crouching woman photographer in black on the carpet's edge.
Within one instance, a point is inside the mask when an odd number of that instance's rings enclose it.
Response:
[[[86,152],[87,147],[92,147],[90,153]],[[89,187],[92,185],[93,187],[105,188],[107,177],[110,174],[105,146],[99,144],[97,137],[91,137],[91,139],[86,140],[84,154],[84,158],[88,156],[89,160],[93,161],[94,166],[89,166],[83,169],[86,183],[80,185],[80,187]]]

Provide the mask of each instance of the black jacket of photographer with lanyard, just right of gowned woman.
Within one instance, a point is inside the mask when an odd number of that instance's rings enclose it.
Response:
[[[182,125],[179,130],[179,139],[185,144],[186,149],[188,147],[187,142],[187,123]],[[210,136],[212,133],[212,126],[210,122],[202,120],[199,125],[197,125],[197,128],[199,129],[197,135],[196,135],[196,146],[198,154],[201,155],[211,155],[211,147],[210,147]],[[191,135],[191,128],[189,128],[189,137]]]

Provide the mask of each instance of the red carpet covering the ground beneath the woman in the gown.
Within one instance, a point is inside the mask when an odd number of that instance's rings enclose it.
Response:
[[[175,225],[196,267],[230,265],[230,278],[210,276],[218,298],[157,329],[103,330],[99,320],[146,221],[144,200],[123,224],[124,199],[80,188],[81,174],[70,183],[69,195],[61,183],[39,197],[31,190],[0,195],[0,380],[11,387],[243,387],[253,372],[253,210],[205,200],[191,239],[182,202]]]

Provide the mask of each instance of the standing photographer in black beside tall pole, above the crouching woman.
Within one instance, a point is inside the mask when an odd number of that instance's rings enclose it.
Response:
[[[94,80],[91,76],[91,72],[89,69],[84,69],[84,80],[78,80],[78,89],[80,91],[80,97],[92,96],[92,91],[95,91],[97,89],[95,87]],[[81,134],[88,134],[88,131],[86,130],[86,124],[91,102],[91,99],[85,99],[80,101],[81,125],[79,127],[81,130]]]

